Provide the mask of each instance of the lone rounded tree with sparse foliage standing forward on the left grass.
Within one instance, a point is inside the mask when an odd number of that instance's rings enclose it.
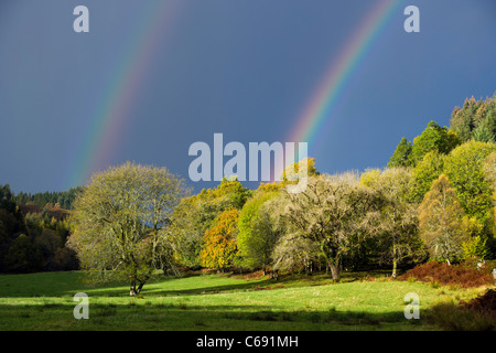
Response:
[[[76,199],[69,244],[94,279],[126,279],[138,295],[157,269],[172,266],[168,227],[183,181],[165,168],[126,163],[97,173]]]

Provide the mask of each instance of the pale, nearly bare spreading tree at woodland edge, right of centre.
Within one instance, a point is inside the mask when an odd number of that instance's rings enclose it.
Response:
[[[339,279],[343,256],[370,232],[378,218],[376,192],[355,174],[311,176],[300,193],[284,193],[282,217],[288,235],[315,244],[333,279]]]

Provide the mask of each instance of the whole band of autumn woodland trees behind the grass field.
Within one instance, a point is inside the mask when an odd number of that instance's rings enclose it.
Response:
[[[298,163],[279,183],[249,190],[223,180],[195,195],[164,169],[130,163],[68,192],[14,195],[6,185],[0,268],[115,269],[132,278],[136,293],[154,270],[181,267],[327,271],[338,279],[367,268],[396,276],[430,259],[490,263],[495,141],[496,95],[466,99],[450,127],[431,121],[413,141],[402,138],[384,169],[327,175],[309,159],[301,193],[285,188],[296,182]]]

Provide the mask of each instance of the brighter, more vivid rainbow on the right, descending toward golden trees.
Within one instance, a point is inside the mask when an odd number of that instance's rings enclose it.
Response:
[[[374,6],[373,11],[346,42],[339,56],[332,61],[324,78],[299,116],[289,141],[309,142],[310,150],[311,143],[323,131],[324,122],[333,119],[332,110],[339,101],[339,97],[353,73],[363,62],[368,50],[400,3],[401,0],[380,0],[377,6]]]

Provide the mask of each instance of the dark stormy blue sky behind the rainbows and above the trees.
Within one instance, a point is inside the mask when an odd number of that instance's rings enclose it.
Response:
[[[119,65],[139,55],[152,2],[1,0],[0,184],[75,186],[85,133]],[[284,142],[379,2],[177,0],[104,164],[165,165],[187,180],[190,145],[212,146],[214,132],[246,146]],[[89,33],[73,31],[78,4],[90,11]],[[409,4],[420,9],[420,33],[403,31]],[[317,170],[385,167],[401,137],[411,140],[430,120],[448,126],[466,97],[492,96],[495,43],[493,0],[403,1],[354,72],[324,142],[309,146]]]

